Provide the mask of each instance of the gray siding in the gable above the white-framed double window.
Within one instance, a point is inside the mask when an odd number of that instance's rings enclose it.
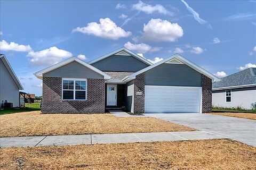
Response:
[[[103,76],[83,66],[76,61],[47,72],[44,77],[77,78],[77,79],[103,79]]]

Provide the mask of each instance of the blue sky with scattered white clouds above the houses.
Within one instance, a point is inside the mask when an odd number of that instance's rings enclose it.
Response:
[[[42,95],[33,73],[121,47],[153,63],[179,53],[220,78],[256,67],[256,1],[0,1],[0,51],[30,94]]]

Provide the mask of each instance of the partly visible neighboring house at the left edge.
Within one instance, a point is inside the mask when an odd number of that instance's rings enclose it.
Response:
[[[19,90],[23,90],[19,79],[4,54],[0,54],[0,105],[6,100],[12,107],[19,107]]]

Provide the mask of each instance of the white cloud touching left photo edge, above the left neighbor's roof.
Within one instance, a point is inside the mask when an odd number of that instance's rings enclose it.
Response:
[[[0,41],[0,49],[3,51],[29,52],[32,48],[29,45],[19,45],[11,42],[7,43],[5,40]]]

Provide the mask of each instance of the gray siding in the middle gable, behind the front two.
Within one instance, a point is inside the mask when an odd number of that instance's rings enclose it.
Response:
[[[137,72],[149,66],[133,56],[111,55],[91,64],[101,71]]]

